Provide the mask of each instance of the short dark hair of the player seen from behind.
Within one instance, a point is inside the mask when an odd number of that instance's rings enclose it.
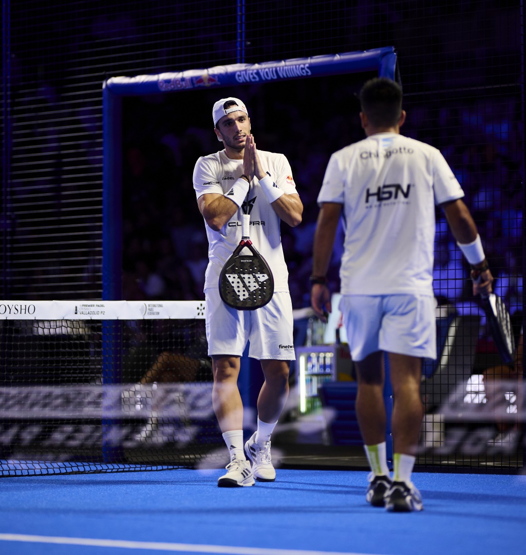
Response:
[[[402,87],[386,77],[368,80],[360,91],[362,112],[374,127],[394,127],[402,115]]]

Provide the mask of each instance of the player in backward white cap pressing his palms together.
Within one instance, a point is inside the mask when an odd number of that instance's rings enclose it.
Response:
[[[209,241],[205,298],[206,336],[214,375],[213,405],[230,451],[227,472],[219,478],[218,485],[252,486],[254,478],[274,481],[276,477],[270,435],[289,393],[289,365],[295,359],[280,221],[292,227],[298,225],[303,205],[285,156],[256,149],[250,118],[241,100],[218,100],[213,118],[215,134],[224,149],[199,158],[194,169],[194,189]],[[274,276],[274,294],[265,306],[255,310],[247,306],[237,310],[227,305],[219,289],[221,269],[241,241],[244,214],[250,215],[251,243]],[[257,280],[250,277],[252,281],[247,280],[246,286],[251,290]],[[250,292],[242,285],[237,291],[241,296]],[[237,377],[247,342],[249,356],[261,361],[265,382],[257,399],[257,430],[244,446]]]

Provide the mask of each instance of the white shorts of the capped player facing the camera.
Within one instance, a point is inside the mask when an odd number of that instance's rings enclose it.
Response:
[[[252,359],[296,359],[289,292],[274,293],[270,302],[257,310],[230,308],[221,300],[219,289],[207,289],[205,299],[209,356],[242,356],[250,341]]]

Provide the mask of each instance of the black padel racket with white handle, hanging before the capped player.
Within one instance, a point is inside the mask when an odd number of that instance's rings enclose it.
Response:
[[[237,310],[256,310],[274,295],[274,276],[249,236],[250,215],[241,216],[241,243],[225,262],[219,275],[221,300]],[[241,254],[244,249],[250,254]]]

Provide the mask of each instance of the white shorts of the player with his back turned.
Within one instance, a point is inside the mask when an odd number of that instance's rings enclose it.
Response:
[[[426,295],[343,295],[352,360],[375,351],[436,359],[435,308],[436,299]]]

